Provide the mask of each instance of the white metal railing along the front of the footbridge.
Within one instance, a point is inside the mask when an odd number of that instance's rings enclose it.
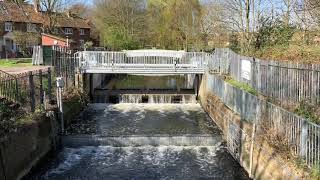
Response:
[[[205,71],[209,54],[186,52],[181,58],[161,56],[128,56],[125,52],[83,51],[76,53],[81,70],[197,70]]]

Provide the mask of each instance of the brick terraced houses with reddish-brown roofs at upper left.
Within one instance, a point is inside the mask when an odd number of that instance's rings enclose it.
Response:
[[[42,44],[42,33],[48,35],[49,17],[35,4],[0,1],[0,58],[22,56],[34,45]],[[51,36],[68,39],[71,49],[83,49],[90,40],[90,25],[86,19],[69,13],[56,13]],[[54,41],[53,41],[54,42]]]

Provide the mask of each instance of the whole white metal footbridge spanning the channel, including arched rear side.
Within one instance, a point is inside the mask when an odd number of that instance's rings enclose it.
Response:
[[[211,54],[171,50],[81,51],[75,54],[82,73],[204,74]]]

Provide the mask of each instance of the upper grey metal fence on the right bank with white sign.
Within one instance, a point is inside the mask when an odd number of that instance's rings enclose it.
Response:
[[[283,105],[303,100],[320,103],[319,64],[260,60],[238,55],[230,49],[216,49],[212,61],[216,63],[209,66],[211,71],[230,74]]]

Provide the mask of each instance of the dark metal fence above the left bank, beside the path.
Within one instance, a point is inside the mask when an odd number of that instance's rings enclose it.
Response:
[[[0,71],[0,96],[34,112],[46,98],[52,99],[52,76],[50,68],[17,75]]]

